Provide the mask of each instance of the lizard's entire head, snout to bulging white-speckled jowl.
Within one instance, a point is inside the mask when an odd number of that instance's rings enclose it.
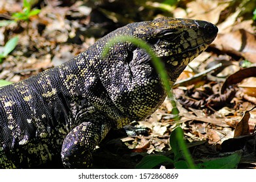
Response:
[[[127,41],[113,45],[107,57],[99,60],[103,45],[119,35],[145,40],[165,63],[172,84],[216,34],[217,27],[212,23],[192,19],[158,18],[130,23],[92,45],[85,58],[120,113],[129,120],[142,120],[155,112],[167,96],[152,58],[143,48]]]

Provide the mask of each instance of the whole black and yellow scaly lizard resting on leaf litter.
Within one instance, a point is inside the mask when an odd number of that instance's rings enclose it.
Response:
[[[61,157],[66,168],[89,168],[91,151],[110,128],[143,120],[167,93],[144,49],[114,45],[128,35],[148,42],[173,84],[216,38],[207,21],[158,18],[110,32],[65,64],[0,88],[0,168],[34,168]]]

